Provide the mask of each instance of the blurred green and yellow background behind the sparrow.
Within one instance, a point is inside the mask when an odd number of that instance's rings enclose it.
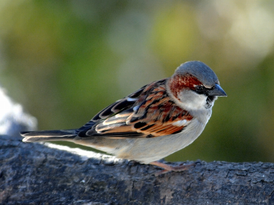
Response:
[[[228,97],[168,161],[274,162],[273,44],[274,1],[0,1],[0,84],[39,130],[78,128],[181,63],[209,65]]]

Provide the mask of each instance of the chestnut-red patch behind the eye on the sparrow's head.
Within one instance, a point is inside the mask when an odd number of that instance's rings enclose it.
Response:
[[[169,79],[169,88],[175,98],[178,99],[178,94],[182,89],[195,90],[195,86],[202,85],[202,83],[194,76],[187,75],[174,75]]]

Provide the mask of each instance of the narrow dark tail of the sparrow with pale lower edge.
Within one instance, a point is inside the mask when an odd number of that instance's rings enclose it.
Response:
[[[77,136],[74,129],[20,132],[23,142],[70,141]]]

